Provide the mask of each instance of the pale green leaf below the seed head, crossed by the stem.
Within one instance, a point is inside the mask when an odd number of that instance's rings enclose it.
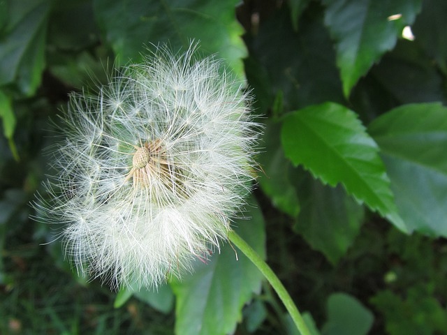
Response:
[[[249,207],[248,207],[249,206]],[[237,220],[235,230],[261,256],[265,256],[263,216],[250,202],[245,214],[250,221]],[[261,290],[263,276],[242,254],[226,244],[221,253],[210,257],[207,264],[197,262],[194,274],[171,286],[177,297],[175,307],[177,335],[223,335],[235,331],[242,319],[242,306],[254,292]]]

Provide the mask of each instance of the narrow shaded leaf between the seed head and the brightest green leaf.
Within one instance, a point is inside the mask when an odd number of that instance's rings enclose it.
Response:
[[[258,158],[264,173],[261,173],[258,182],[274,207],[296,217],[300,212],[300,202],[289,177],[291,164],[281,148],[279,131],[280,124],[269,122],[265,126],[264,141],[261,144],[263,152]]]

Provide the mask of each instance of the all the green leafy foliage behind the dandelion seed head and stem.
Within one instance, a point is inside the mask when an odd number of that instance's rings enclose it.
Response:
[[[231,246],[110,292],[30,219],[68,93],[190,40],[254,93],[265,173],[236,226],[312,333],[447,334],[445,22],[434,0],[0,0],[0,334],[297,334]]]

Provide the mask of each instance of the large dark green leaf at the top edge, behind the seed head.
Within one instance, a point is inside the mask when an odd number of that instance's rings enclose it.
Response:
[[[169,43],[173,50],[200,40],[200,50],[219,54],[244,78],[247,50],[233,1],[95,0],[94,10],[105,39],[124,62],[140,59],[144,45]],[[132,36],[132,38],[129,38]]]

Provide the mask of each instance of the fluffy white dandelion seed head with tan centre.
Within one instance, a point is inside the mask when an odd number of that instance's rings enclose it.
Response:
[[[38,200],[78,271],[112,287],[181,276],[226,239],[251,189],[258,128],[212,57],[159,48],[93,95],[71,95]]]

